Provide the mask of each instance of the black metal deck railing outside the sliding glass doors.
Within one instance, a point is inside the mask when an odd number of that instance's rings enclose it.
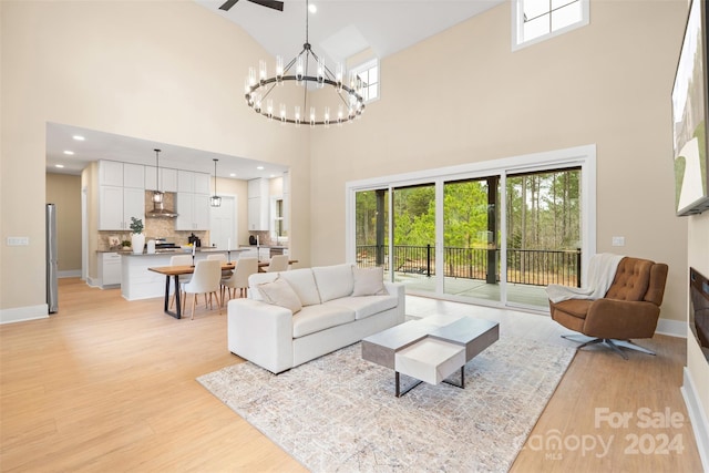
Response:
[[[443,248],[445,277],[500,280],[500,250],[486,248]],[[389,266],[389,247],[357,247],[360,267]],[[394,271],[435,276],[435,251],[432,245],[394,246]],[[491,265],[492,261],[492,265]],[[490,267],[494,274],[490,274]],[[580,249],[507,249],[507,282],[531,286],[580,287]]]

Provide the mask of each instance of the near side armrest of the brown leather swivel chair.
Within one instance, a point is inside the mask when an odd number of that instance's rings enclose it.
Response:
[[[659,316],[660,308],[653,302],[598,299],[588,309],[584,333],[619,340],[651,338]]]

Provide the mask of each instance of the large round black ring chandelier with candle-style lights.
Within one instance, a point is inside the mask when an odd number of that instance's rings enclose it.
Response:
[[[258,73],[256,68],[249,68],[245,83],[246,103],[254,112],[280,121],[281,123],[301,123],[311,126],[331,123],[341,124],[359,117],[364,111],[364,100],[361,95],[361,80],[354,73],[350,73],[345,80],[345,68],[338,64],[332,73],[325,65],[325,58],[319,56],[308,42],[308,8],[306,0],[306,42],[302,50],[284,66],[281,56],[276,56],[276,75],[268,76],[266,61],[259,61]],[[315,71],[315,75],[312,74]],[[291,85],[302,88],[302,102],[292,102],[292,95],[288,95],[279,89],[292,89]],[[321,90],[326,105],[321,110],[310,104],[308,93],[310,89]],[[318,97],[320,99],[321,95]]]

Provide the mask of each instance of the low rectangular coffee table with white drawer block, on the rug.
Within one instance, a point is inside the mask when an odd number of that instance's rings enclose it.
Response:
[[[411,320],[362,340],[362,358],[394,370],[399,398],[421,382],[465,388],[465,363],[500,338],[497,322],[435,315]],[[446,380],[461,370],[460,384]],[[401,390],[400,373],[419,380]]]

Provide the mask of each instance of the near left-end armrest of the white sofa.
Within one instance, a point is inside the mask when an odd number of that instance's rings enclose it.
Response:
[[[229,351],[274,373],[292,368],[292,312],[251,299],[233,299],[227,311]]]

